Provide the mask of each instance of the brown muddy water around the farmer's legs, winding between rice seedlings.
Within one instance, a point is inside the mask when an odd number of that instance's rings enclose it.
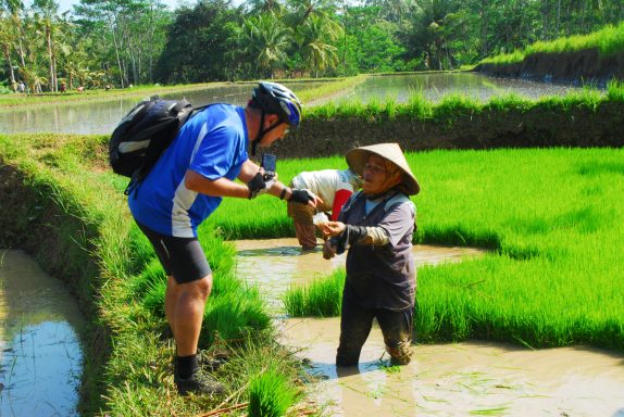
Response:
[[[295,239],[236,242],[237,274],[265,294],[282,343],[311,365],[311,397],[328,416],[606,416],[624,417],[624,355],[584,346],[532,351],[481,341],[414,346],[414,361],[388,367],[373,328],[358,368],[337,369],[339,318],[288,318],[280,295],[342,267]],[[417,265],[470,262],[484,251],[416,245]],[[417,341],[416,341],[417,343]]]

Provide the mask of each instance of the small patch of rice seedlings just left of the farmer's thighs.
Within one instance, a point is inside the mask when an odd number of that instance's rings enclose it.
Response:
[[[340,315],[345,271],[336,270],[305,287],[289,288],[283,296],[286,313],[291,317],[335,317]]]

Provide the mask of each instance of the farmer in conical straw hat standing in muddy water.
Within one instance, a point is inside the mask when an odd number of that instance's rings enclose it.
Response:
[[[347,163],[362,176],[362,191],[345,204],[338,222],[319,225],[332,237],[324,247],[325,258],[349,248],[336,366],[358,365],[373,318],[391,363],[404,365],[411,359],[416,290],[416,210],[408,195],[421,188],[397,143],[352,149]]]

